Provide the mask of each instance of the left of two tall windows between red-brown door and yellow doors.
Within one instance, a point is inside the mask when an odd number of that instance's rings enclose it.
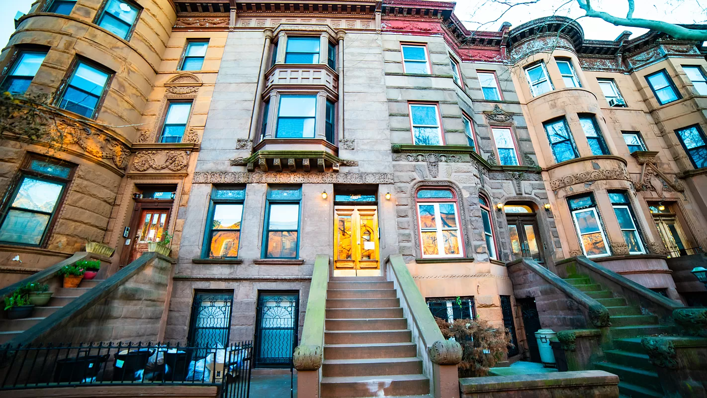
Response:
[[[238,257],[240,223],[243,218],[243,188],[214,188],[206,221],[206,257]]]

